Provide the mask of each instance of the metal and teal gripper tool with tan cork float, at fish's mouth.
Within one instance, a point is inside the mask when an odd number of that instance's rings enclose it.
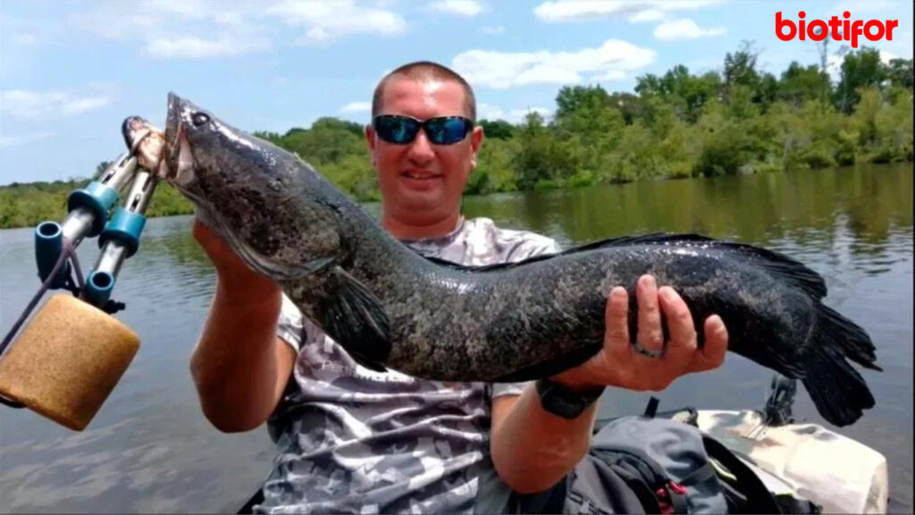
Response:
[[[36,226],[41,286],[0,343],[0,404],[82,431],[133,360],[139,338],[112,316],[125,307],[112,292],[124,261],[140,246],[156,191],[156,170],[137,154],[155,135],[138,138],[96,180],[70,192],[62,221]],[[115,208],[124,190],[124,202]],[[96,237],[99,256],[84,278],[76,248]],[[48,290],[72,295],[55,294],[26,323]]]

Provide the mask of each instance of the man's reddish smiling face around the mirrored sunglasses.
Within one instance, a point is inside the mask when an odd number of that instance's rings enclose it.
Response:
[[[380,115],[406,115],[425,121],[436,116],[467,116],[464,90],[457,82],[394,77],[382,95]],[[453,145],[433,145],[420,130],[397,145],[366,128],[371,157],[381,186],[385,213],[405,224],[433,223],[460,209],[470,172],[477,166],[482,129]]]

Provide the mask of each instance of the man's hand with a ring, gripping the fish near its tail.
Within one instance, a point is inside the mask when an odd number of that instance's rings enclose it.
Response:
[[[570,389],[614,386],[636,391],[666,389],[676,378],[721,366],[727,352],[727,329],[717,315],[705,319],[705,344],[696,345],[693,316],[673,288],[659,289],[655,279],[642,276],[636,288],[639,305],[637,341],[646,350],[664,347],[661,326],[666,318],[670,340],[662,356],[643,356],[630,344],[629,295],[617,287],[610,291],[605,313],[604,348],[586,363],[554,376]]]

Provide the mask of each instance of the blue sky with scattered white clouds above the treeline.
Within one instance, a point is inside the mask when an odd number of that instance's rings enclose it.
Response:
[[[168,92],[282,134],[368,123],[378,80],[412,60],[455,69],[479,117],[511,122],[549,116],[565,85],[632,92],[677,64],[720,71],[745,40],[779,75],[819,62],[812,41],[775,36],[775,13],[801,9],[898,19],[892,41],[865,42],[912,57],[912,3],[895,0],[0,0],[0,185],[91,176],[124,152],[125,117],[164,127]]]

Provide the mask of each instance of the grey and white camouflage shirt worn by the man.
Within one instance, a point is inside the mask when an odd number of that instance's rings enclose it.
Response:
[[[404,241],[465,265],[559,251],[553,239],[461,220],[435,239]],[[489,463],[491,400],[521,383],[442,383],[361,367],[284,299],[278,334],[298,356],[268,422],[279,448],[255,511],[468,513]]]

